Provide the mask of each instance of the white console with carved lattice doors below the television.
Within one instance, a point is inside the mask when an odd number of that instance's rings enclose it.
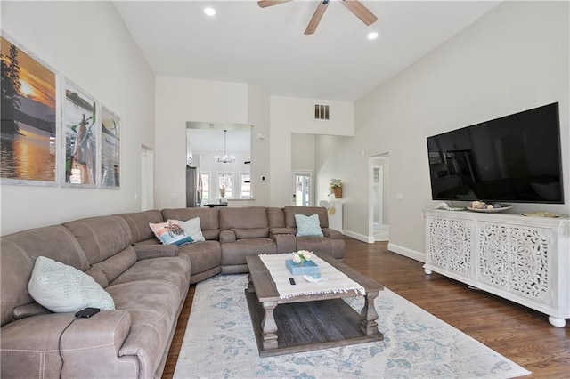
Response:
[[[426,210],[426,274],[570,319],[570,218]]]

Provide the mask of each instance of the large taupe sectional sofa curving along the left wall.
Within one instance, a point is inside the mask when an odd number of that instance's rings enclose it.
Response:
[[[317,214],[322,236],[297,237],[296,214]],[[162,245],[149,226],[196,218],[204,240],[183,246]],[[248,254],[312,250],[341,260],[344,240],[328,226],[323,207],[180,208],[91,217],[4,236],[0,375],[160,377],[190,284],[247,272]],[[35,263],[45,261],[39,256],[96,283],[114,310],[82,319],[74,311],[40,305],[28,291],[30,278],[43,279],[36,278]],[[61,278],[64,286],[59,277],[53,280],[64,294],[75,283],[67,279]],[[93,291],[82,288],[84,294]]]

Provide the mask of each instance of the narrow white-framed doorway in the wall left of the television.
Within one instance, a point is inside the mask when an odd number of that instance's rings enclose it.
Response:
[[[370,158],[370,198],[369,198],[369,240],[388,241],[390,226],[388,220],[388,178],[389,158],[387,154]]]

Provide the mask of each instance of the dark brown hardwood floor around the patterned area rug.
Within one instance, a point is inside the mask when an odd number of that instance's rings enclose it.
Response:
[[[533,372],[525,378],[570,378],[569,325],[551,327],[540,312],[436,273],[425,275],[421,262],[389,252],[387,242],[345,239],[348,266]],[[194,289],[178,319],[163,378],[174,374]]]

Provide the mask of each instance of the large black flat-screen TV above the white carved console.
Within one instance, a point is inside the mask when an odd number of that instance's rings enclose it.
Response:
[[[434,200],[564,204],[558,102],[428,137]]]

